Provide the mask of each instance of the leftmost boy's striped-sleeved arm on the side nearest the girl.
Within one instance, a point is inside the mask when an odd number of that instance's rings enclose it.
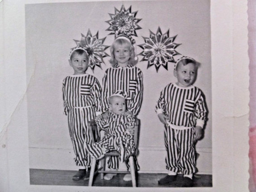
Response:
[[[95,82],[93,83],[92,87],[92,96],[95,102],[96,107],[96,116],[101,114],[101,96],[102,96],[102,87],[99,81],[95,78]]]

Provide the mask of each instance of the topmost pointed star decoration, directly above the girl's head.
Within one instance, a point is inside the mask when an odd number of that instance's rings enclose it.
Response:
[[[124,5],[122,5],[120,10],[115,8],[115,14],[109,13],[111,19],[106,22],[110,26],[106,31],[112,31],[109,35],[115,34],[115,37],[120,34],[137,37],[136,30],[141,29],[137,25],[141,21],[141,19],[136,18],[137,12],[132,12],[132,6],[129,9],[125,9]]]

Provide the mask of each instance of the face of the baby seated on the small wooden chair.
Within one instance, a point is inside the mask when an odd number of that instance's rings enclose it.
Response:
[[[113,96],[110,98],[109,109],[118,115],[124,114],[125,112],[125,99],[120,96]]]

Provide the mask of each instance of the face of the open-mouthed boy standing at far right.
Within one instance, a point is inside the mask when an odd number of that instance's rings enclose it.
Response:
[[[178,65],[174,70],[174,76],[177,78],[177,85],[180,87],[189,87],[195,81],[197,68],[193,63],[187,65]]]

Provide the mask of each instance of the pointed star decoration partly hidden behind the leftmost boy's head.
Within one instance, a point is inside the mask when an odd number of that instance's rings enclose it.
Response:
[[[103,58],[109,57],[109,55],[105,52],[107,48],[110,46],[103,45],[106,37],[102,39],[98,39],[98,31],[96,35],[92,35],[90,29],[88,29],[87,35],[84,36],[82,33],[81,40],[75,40],[77,46],[84,47],[89,55],[89,67],[94,70],[95,66],[98,66],[102,69],[101,64],[104,63]],[[105,63],[104,63],[105,64]]]

